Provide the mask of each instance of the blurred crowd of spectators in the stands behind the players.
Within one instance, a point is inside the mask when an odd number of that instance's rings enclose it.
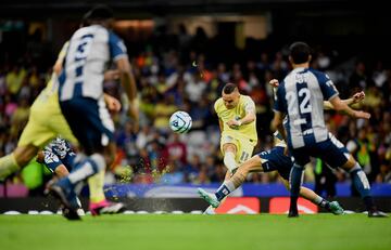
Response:
[[[118,146],[108,182],[194,183],[222,182],[225,176],[219,152],[219,130],[213,103],[227,82],[236,83],[242,94],[256,104],[260,142],[256,152],[273,146],[269,123],[273,118],[273,90],[268,81],[282,80],[290,70],[287,48],[265,50],[251,56],[216,56],[213,44],[202,30],[190,36],[154,35],[147,45],[128,44],[137,78],[140,122],[128,118],[126,110],[112,114]],[[157,42],[159,41],[159,42]],[[219,44],[219,43],[218,43]],[[211,49],[212,48],[212,49]],[[327,111],[329,130],[348,145],[370,182],[391,183],[391,67],[380,58],[341,57],[318,44],[312,67],[327,71],[342,98],[365,91],[364,109],[369,121],[353,120]],[[223,52],[224,53],[224,52]],[[39,57],[38,57],[39,58]],[[20,60],[0,65],[0,156],[16,146],[28,118],[29,105],[46,85],[51,74],[28,52]],[[117,82],[105,82],[105,91],[123,102]],[[193,119],[187,134],[169,130],[169,116],[186,110]],[[50,119],[50,117],[48,117]],[[139,128],[138,128],[139,127]],[[315,166],[315,162],[313,163]],[[306,181],[314,181],[314,168],[306,169]],[[336,172],[338,181],[348,175]],[[9,182],[15,182],[15,177]],[[252,174],[250,182],[276,182],[273,174]]]

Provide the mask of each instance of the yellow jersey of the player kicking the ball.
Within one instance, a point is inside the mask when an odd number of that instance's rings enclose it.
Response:
[[[254,110],[255,113],[255,103],[248,95],[240,95],[239,103],[235,108],[228,109],[224,105],[223,97],[219,97],[215,104],[214,109],[218,118],[223,121],[223,135],[230,135],[236,139],[245,137],[249,139],[254,145],[257,142],[256,124],[255,121],[252,121],[247,124],[241,124],[238,128],[231,128],[227,124],[229,120],[236,119],[239,120],[247,115],[247,110]],[[255,118],[256,119],[256,118]]]

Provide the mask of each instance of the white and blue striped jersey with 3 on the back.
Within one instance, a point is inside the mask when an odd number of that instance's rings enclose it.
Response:
[[[105,27],[91,25],[76,30],[59,76],[60,102],[80,96],[99,100],[109,63],[124,56],[124,42]]]

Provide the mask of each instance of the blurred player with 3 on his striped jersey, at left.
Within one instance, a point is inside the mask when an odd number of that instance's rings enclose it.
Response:
[[[83,159],[72,172],[49,186],[62,205],[76,213],[75,187],[89,176],[104,171],[115,155],[114,123],[103,101],[104,70],[114,61],[121,83],[129,100],[129,113],[138,121],[137,90],[124,42],[110,28],[113,12],[106,6],[87,13],[88,25],[74,32],[59,76],[61,110],[77,137]]]

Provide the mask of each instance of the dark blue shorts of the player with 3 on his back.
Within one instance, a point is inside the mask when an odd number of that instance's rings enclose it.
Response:
[[[60,102],[73,134],[87,155],[102,152],[114,139],[114,123],[103,100],[88,97]]]

